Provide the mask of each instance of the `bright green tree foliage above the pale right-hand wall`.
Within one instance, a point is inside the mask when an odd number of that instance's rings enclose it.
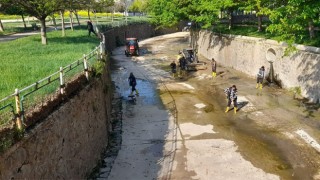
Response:
[[[203,28],[221,22],[227,14],[232,28],[236,11],[253,12],[257,30],[266,30],[280,36],[289,44],[317,36],[315,26],[320,24],[319,0],[146,0],[152,22],[158,26],[173,26],[182,20],[194,21]],[[262,17],[269,18],[262,24]],[[263,28],[266,27],[266,28]],[[309,33],[306,33],[309,32]]]

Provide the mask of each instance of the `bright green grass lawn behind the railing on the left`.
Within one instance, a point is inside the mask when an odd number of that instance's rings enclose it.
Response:
[[[83,26],[74,31],[47,33],[48,45],[41,44],[40,35],[0,43],[0,99],[12,94],[15,88],[26,87],[91,52],[99,39]]]

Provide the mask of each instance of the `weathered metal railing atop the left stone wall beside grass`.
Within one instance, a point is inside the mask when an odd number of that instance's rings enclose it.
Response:
[[[45,88],[47,89],[42,92],[42,96],[46,96],[57,90],[59,90],[60,94],[64,94],[65,83],[80,72],[83,72],[87,80],[89,80],[90,69],[95,62],[103,58],[105,55],[104,53],[104,43],[101,42],[93,51],[84,54],[81,59],[74,61],[65,67],[60,67],[59,71],[56,71],[48,77],[36,81],[27,87],[15,89],[14,93],[0,100],[0,127],[8,125],[14,120],[17,128],[23,129],[24,117],[26,114],[25,102],[28,97],[31,97],[31,95],[34,95],[36,92]],[[35,97],[28,99],[28,101],[31,101],[29,104],[39,103]]]

